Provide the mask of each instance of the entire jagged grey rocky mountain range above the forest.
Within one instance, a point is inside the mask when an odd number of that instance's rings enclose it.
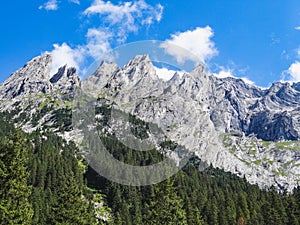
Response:
[[[25,131],[47,128],[66,140],[82,139],[72,128],[73,100],[81,88],[105,105],[156,124],[168,140],[251,184],[289,192],[299,184],[300,83],[262,89],[217,78],[203,65],[164,81],[147,55],[123,68],[103,62],[82,81],[75,68],[65,65],[51,76],[50,66],[51,55],[34,58],[0,85],[0,110]],[[110,133],[115,128],[102,126]],[[159,144],[151,130],[144,133]]]

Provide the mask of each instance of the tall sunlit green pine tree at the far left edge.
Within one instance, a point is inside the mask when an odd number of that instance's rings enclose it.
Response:
[[[29,145],[21,131],[0,139],[0,224],[31,224],[33,209],[27,185]]]

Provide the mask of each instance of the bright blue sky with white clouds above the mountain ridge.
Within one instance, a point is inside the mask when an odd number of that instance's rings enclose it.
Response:
[[[220,77],[300,81],[297,0],[17,0],[3,3],[0,21],[0,81],[45,52],[53,71],[68,63],[84,73],[106,51],[152,39],[189,50]]]

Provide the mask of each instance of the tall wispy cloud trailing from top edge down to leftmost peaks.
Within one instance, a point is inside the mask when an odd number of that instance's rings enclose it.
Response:
[[[76,0],[72,2],[77,3]],[[144,0],[119,4],[95,0],[84,10],[83,19],[92,16],[100,17],[98,27],[88,28],[84,44],[73,47],[67,43],[53,45],[54,49],[49,52],[53,56],[51,73],[55,73],[66,63],[76,67],[79,73],[84,73],[87,59],[100,60],[112,49],[113,44],[124,43],[130,33],[137,32],[143,26],[159,22],[162,13],[163,6],[160,4],[152,6]]]

